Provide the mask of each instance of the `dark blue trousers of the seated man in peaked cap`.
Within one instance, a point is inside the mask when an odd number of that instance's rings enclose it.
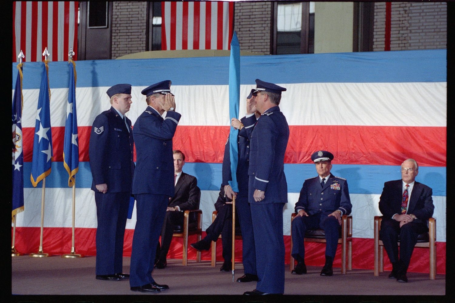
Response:
[[[339,229],[341,226],[338,220],[334,216],[328,216],[328,214],[317,213],[307,216],[295,217],[292,221],[292,256],[297,262],[304,262],[305,258],[305,246],[303,238],[305,238],[305,232],[309,229],[321,228],[325,232],[325,255],[335,257],[337,251]]]

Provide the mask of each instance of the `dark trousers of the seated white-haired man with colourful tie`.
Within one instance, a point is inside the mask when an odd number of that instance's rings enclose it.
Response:
[[[409,222],[400,228],[398,221],[390,218],[382,219],[379,238],[384,243],[390,262],[398,264],[401,273],[406,273],[408,270],[411,255],[417,243],[417,236],[426,232],[428,232],[428,227],[425,223]],[[400,239],[399,253],[398,236]]]

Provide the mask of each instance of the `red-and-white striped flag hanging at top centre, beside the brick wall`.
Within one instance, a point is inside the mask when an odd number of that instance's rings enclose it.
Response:
[[[227,1],[162,2],[162,50],[229,50],[234,4]]]

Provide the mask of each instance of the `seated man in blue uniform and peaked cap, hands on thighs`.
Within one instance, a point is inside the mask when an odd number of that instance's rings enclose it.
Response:
[[[292,222],[292,256],[297,260],[297,266],[291,273],[307,273],[305,265],[305,246],[303,238],[308,229],[324,229],[325,264],[321,276],[331,276],[334,271],[332,264],[338,245],[341,217],[350,214],[352,205],[349,199],[348,181],[335,177],[330,173],[334,155],[325,150],[319,150],[311,155],[316,165],[318,177],[306,179],[303,182],[298,202],[295,204],[297,216]]]

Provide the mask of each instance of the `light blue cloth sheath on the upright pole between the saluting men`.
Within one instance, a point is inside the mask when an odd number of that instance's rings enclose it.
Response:
[[[238,108],[240,106],[240,45],[238,44],[237,33],[231,40],[231,56],[229,58],[229,117],[238,119]],[[238,193],[237,164],[238,164],[238,130],[230,127],[229,131],[229,154],[231,157],[232,181],[229,181],[234,192]]]

